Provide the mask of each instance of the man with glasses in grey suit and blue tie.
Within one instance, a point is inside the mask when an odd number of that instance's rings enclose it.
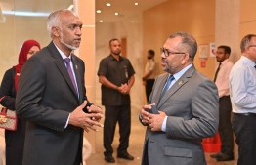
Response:
[[[219,98],[216,85],[193,65],[196,51],[186,32],[170,35],[161,48],[167,73],[156,78],[140,114],[147,126],[142,165],[206,164],[201,140],[218,129]]]

